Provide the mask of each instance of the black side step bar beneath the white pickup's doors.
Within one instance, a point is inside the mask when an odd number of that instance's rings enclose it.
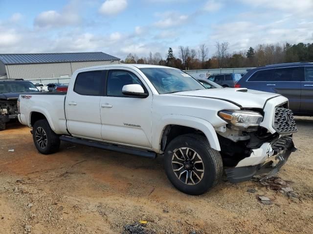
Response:
[[[81,145],[87,145],[87,146],[91,146],[91,147],[95,147],[95,148],[99,148],[103,150],[111,150],[111,151],[116,151],[116,152],[130,154],[130,155],[149,157],[153,159],[156,158],[155,152],[139,150],[139,149],[134,149],[134,148],[125,147],[125,146],[113,145],[113,144],[74,138],[74,137],[68,137],[68,136],[61,136],[60,140],[71,142],[71,143],[76,143],[76,144],[81,144]]]

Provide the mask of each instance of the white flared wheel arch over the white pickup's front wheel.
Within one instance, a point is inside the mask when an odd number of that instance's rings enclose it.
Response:
[[[162,139],[162,134],[167,125],[181,125],[186,127],[191,127],[200,130],[204,133],[205,137],[208,139],[211,148],[221,151],[220,142],[214,130],[212,124],[204,119],[191,117],[191,116],[181,116],[181,115],[166,115],[163,116],[159,123],[155,124],[152,136],[152,147],[155,151],[160,152],[160,142]]]

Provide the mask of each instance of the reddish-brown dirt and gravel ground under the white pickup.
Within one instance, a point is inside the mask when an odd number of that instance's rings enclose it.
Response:
[[[297,126],[299,150],[278,174],[289,197],[254,181],[185,195],[167,180],[162,157],[70,143],[45,156],[28,128],[10,124],[0,132],[0,234],[121,234],[140,220],[147,234],[312,234],[313,117],[297,117]]]

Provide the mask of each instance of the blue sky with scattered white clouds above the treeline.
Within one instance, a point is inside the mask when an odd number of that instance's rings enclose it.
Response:
[[[228,52],[262,43],[313,43],[313,0],[0,0],[0,53],[147,57],[169,47]]]

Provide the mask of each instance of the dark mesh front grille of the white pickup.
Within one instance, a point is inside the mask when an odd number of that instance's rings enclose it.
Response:
[[[278,134],[297,132],[292,111],[290,109],[276,107],[273,128]]]

